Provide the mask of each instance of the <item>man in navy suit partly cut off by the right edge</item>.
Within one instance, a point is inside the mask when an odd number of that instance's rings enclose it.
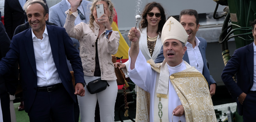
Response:
[[[231,96],[236,98],[239,115],[243,121],[256,120],[256,19],[251,23],[254,42],[236,49],[227,65],[224,67],[221,78]],[[236,74],[236,81],[233,76]]]

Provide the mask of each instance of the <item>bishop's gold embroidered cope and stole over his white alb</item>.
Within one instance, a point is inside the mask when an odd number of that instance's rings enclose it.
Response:
[[[166,77],[162,77],[162,73],[160,73],[161,70],[163,74],[166,75],[167,73],[164,72],[167,71],[169,76],[168,67],[165,66],[167,63],[165,61],[163,62],[163,67],[165,68],[161,68],[162,63],[155,64],[153,60],[148,60],[147,62],[151,64],[151,68],[154,71],[158,72],[154,98],[154,121],[168,121],[168,116],[172,115],[168,113],[168,107],[161,108],[161,104],[162,106],[168,106],[169,79],[180,98],[187,122],[217,121],[208,84],[204,76],[197,69],[185,62],[186,70],[174,73],[166,80]],[[167,85],[166,82],[163,83],[163,79],[168,81]],[[162,87],[162,85],[164,85],[164,87]],[[161,101],[159,102],[159,100]],[[138,87],[136,122],[148,122],[150,115],[149,109],[150,95],[148,92]]]

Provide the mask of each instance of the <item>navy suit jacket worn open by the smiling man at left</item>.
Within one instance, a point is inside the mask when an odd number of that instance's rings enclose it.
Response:
[[[72,40],[66,33],[65,28],[54,25],[46,25],[46,28],[49,35],[53,61],[57,68],[59,78],[70,97],[75,101],[72,76],[67,66],[66,56],[74,69],[76,83],[84,83],[81,58],[74,48]],[[23,89],[24,106],[25,111],[28,112],[37,92],[37,69],[31,28],[13,37],[10,50],[7,52],[5,58],[2,58],[0,61],[0,75],[4,75],[15,61],[18,61],[20,66],[20,81]]]

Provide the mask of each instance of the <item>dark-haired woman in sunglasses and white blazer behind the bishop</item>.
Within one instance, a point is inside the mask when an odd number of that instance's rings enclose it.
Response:
[[[154,61],[157,58],[162,47],[161,32],[165,22],[164,8],[160,3],[152,2],[145,6],[139,25],[139,47],[146,60],[153,59]],[[129,40],[131,40],[130,34],[134,33],[130,32],[132,30],[128,33]],[[128,71],[129,61],[123,64],[119,62],[114,64],[115,67],[119,65],[120,69],[123,68],[125,73]]]

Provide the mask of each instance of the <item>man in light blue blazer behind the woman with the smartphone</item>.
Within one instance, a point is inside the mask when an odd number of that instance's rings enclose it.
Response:
[[[89,23],[90,21],[90,7],[91,7],[91,3],[90,1],[86,1],[86,0],[81,0],[80,5],[78,7],[78,10],[81,12],[79,13],[79,17],[76,18],[75,20],[75,25],[84,22],[84,23]],[[66,13],[65,11],[67,11],[68,9],[70,9],[70,3],[68,0],[62,0],[61,2],[59,2],[58,4],[52,6],[49,9],[49,22],[51,23],[55,23],[58,26],[63,27],[66,21]],[[79,41],[75,38],[71,38],[73,41],[73,46],[77,49],[78,52],[79,48],[80,48],[80,44]],[[67,60],[67,59],[66,59]],[[69,71],[73,71],[71,64],[69,63],[69,60],[67,60],[68,63],[68,68]],[[77,97],[76,97],[76,103],[74,104],[74,114],[75,114],[75,122],[78,122],[79,120],[79,106],[78,106],[78,101],[77,101]]]

